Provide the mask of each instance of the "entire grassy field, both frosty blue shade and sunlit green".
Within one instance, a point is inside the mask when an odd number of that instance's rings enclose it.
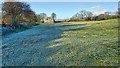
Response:
[[[40,24],[3,37],[3,65],[116,66],[118,20]]]

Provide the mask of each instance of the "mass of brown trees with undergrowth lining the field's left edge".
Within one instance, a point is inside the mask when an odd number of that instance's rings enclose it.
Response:
[[[19,28],[22,26],[36,25],[40,16],[30,8],[26,2],[2,3],[2,25]]]

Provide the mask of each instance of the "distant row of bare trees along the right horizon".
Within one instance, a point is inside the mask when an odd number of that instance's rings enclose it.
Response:
[[[118,12],[114,12],[114,13],[104,12],[103,14],[94,15],[90,11],[82,10],[76,13],[75,15],[73,15],[69,21],[91,21],[91,20],[99,21],[99,20],[114,19],[118,17],[119,17]]]

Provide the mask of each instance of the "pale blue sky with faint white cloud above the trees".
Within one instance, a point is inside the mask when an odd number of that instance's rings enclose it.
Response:
[[[88,10],[94,14],[100,14],[105,11],[115,12],[118,9],[117,2],[29,2],[31,9],[37,14],[56,13],[58,19],[70,18],[81,10]]]

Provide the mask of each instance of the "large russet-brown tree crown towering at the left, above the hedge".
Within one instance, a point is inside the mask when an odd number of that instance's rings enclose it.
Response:
[[[26,2],[4,2],[2,6],[3,19],[7,16],[12,18],[12,26],[17,27],[20,21],[28,21],[33,23],[37,17],[35,12],[30,9],[30,5]]]

